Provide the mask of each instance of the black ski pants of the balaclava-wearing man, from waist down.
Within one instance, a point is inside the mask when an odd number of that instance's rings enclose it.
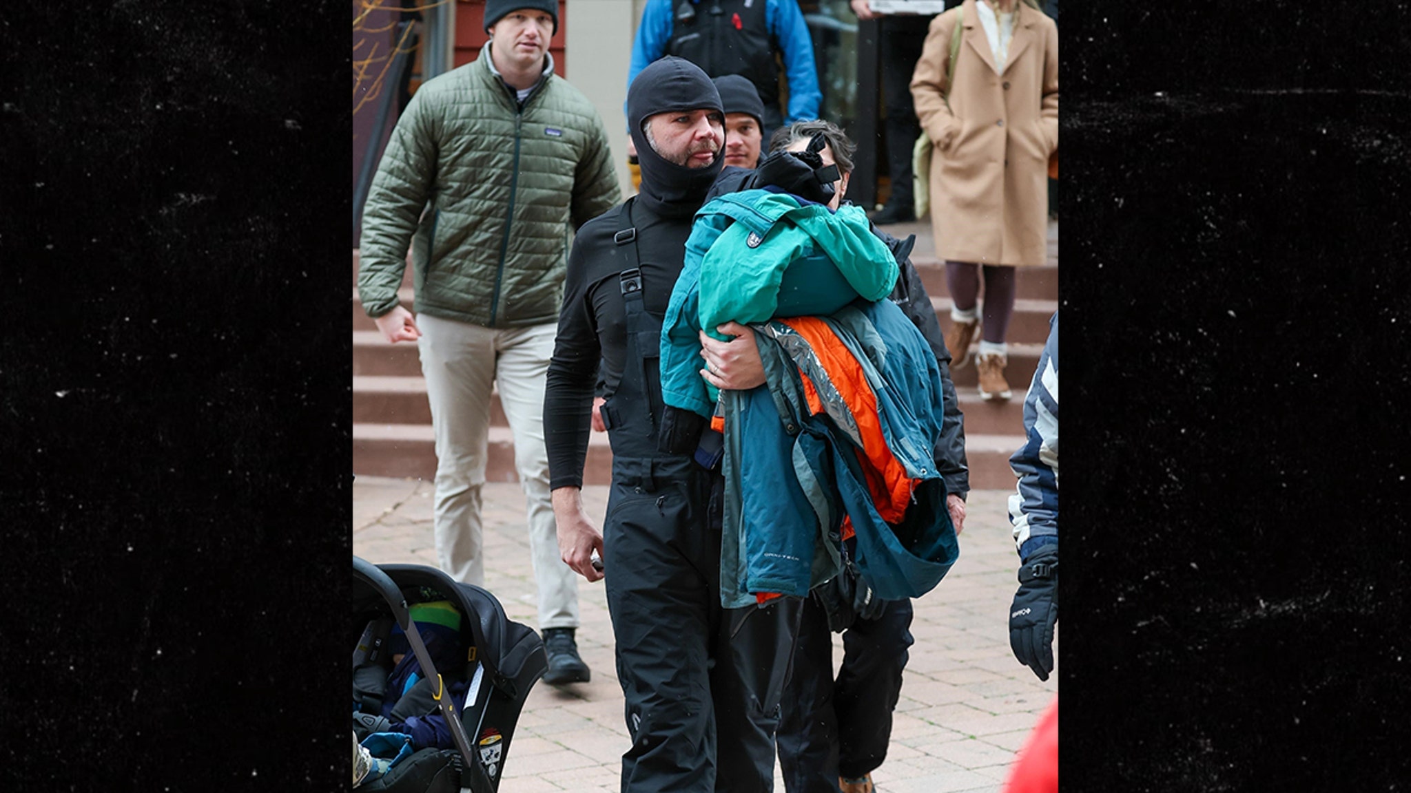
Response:
[[[604,583],[632,748],[624,793],[773,789],[799,598],[720,604],[722,480],[686,457],[612,460]]]

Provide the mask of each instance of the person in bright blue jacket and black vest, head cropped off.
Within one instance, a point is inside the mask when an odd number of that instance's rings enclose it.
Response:
[[[789,107],[779,103],[779,62]],[[711,78],[741,75],[765,103],[763,140],[783,124],[818,117],[823,93],[813,40],[797,0],[646,0],[632,42],[626,85],[663,55],[696,63]]]

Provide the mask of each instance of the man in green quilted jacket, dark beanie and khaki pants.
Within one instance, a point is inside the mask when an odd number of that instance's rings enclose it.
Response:
[[[545,371],[573,231],[621,196],[602,119],[553,73],[557,27],[557,0],[488,0],[480,58],[412,97],[363,210],[358,295],[388,341],[418,344],[436,432],[436,555],[477,586],[498,388],[528,501],[545,680],[562,684],[590,672],[574,638],[577,580],[559,557],[549,498]],[[396,295],[408,250],[412,310]]]

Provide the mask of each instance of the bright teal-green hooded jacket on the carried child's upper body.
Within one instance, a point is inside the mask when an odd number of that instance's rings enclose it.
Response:
[[[789,193],[742,190],[696,213],[686,264],[666,308],[662,398],[710,416],[717,392],[700,375],[698,330],[773,317],[825,316],[896,285],[896,260],[856,206],[837,212]]]

